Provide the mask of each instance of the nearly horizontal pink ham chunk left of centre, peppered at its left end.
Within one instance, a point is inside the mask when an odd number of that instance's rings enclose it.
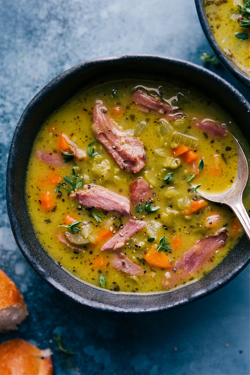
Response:
[[[89,184],[84,185],[84,190],[80,190],[70,195],[71,199],[86,207],[101,208],[105,211],[117,211],[121,215],[130,215],[130,201],[126,196],[117,194],[105,187]]]

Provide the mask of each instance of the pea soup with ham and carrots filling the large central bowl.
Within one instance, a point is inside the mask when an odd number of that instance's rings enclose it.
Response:
[[[34,233],[67,272],[120,292],[169,291],[219,264],[242,236],[223,205],[237,175],[232,119],[177,83],[88,87],[40,129],[28,163]]]

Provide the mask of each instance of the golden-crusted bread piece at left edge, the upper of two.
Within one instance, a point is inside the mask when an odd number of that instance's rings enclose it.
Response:
[[[0,332],[17,330],[28,315],[24,298],[16,284],[0,270]]]

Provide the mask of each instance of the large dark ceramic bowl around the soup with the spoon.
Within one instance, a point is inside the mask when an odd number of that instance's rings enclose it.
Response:
[[[93,81],[121,77],[167,82],[178,79],[206,93],[249,135],[249,103],[229,83],[201,66],[181,60],[148,55],[118,55],[79,64],[48,83],[28,104],[13,135],[7,165],[7,208],[16,243],[33,269],[70,299],[92,308],[117,312],[150,312],[170,309],[204,297],[234,278],[250,261],[244,236],[225,260],[205,278],[172,292],[117,293],[74,278],[60,268],[34,236],[24,196],[24,176],[37,132],[45,119]]]

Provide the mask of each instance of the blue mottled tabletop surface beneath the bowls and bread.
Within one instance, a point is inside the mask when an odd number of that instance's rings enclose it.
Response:
[[[54,374],[249,374],[249,267],[190,305],[148,315],[95,311],[47,285],[19,252],[4,181],[13,131],[48,81],[90,58],[147,53],[202,65],[211,49],[192,0],[0,1],[0,268],[18,285],[29,317],[0,342],[24,338],[54,352]],[[222,66],[213,71],[249,98]],[[75,351],[63,357],[53,336]]]

